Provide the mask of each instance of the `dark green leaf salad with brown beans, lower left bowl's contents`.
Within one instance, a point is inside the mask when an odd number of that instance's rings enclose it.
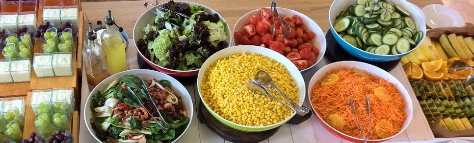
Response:
[[[171,83],[153,79],[146,84],[150,96],[142,88],[140,78],[128,75],[116,79],[92,96],[90,108],[93,117],[89,122],[99,140],[103,143],[170,143],[184,133],[189,118],[181,97],[171,90]],[[143,106],[133,100],[126,86],[132,89]],[[158,106],[162,117],[151,100]],[[149,116],[147,111],[153,116]],[[157,121],[161,120],[170,125],[169,129],[158,125]]]

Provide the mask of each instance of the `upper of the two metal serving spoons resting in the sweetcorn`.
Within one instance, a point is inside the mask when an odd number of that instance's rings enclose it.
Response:
[[[280,91],[280,89],[278,89],[275,86],[275,82],[273,82],[270,75],[268,75],[268,73],[266,73],[265,71],[260,70],[259,72],[257,72],[257,75],[255,75],[255,80],[257,80],[257,82],[259,82],[261,85],[265,87],[270,87],[271,89],[281,94],[283,98],[285,98],[288,102],[290,102],[290,104],[296,110],[296,113],[298,113],[299,115],[303,116],[303,115],[306,115],[306,113],[310,112],[310,109],[299,106],[298,104],[293,102],[287,95],[285,95],[282,91]]]

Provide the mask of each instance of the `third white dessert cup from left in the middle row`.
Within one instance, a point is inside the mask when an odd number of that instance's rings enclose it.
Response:
[[[36,77],[54,77],[53,55],[52,54],[34,54],[33,69]]]

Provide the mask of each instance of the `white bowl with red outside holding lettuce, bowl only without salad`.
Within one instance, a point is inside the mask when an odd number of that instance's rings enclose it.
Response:
[[[199,4],[199,3],[196,3],[196,2],[190,2],[190,1],[175,1],[175,2],[176,3],[187,3],[187,4],[192,3],[194,5],[201,6],[204,9],[204,11],[209,13],[209,14],[217,13],[216,11],[214,11],[211,8],[207,7],[206,5],[202,5],[202,4]],[[165,3],[158,4],[158,6],[163,7],[163,5]],[[154,9],[154,10],[156,9],[156,8],[152,8],[152,7],[150,7],[150,8]],[[217,14],[217,15],[219,16],[219,19],[222,20],[226,24],[226,35],[227,35],[226,41],[229,44],[229,46],[232,46],[231,31],[230,31],[230,28],[229,28],[229,24],[227,24],[227,22],[224,20],[224,18],[222,18],[221,15],[219,15],[219,14]],[[140,38],[143,38],[143,36],[145,35],[145,33],[143,31],[141,31],[141,28],[145,27],[149,23],[150,24],[154,23],[155,18],[156,18],[156,14],[149,11],[149,10],[147,10],[138,18],[138,20],[136,20],[135,26],[133,27],[133,43],[135,44],[135,48],[137,48],[136,41],[138,41]],[[140,51],[140,50],[138,50],[138,48],[137,48],[137,51]],[[148,65],[150,65],[154,69],[157,69],[158,71],[166,73],[166,74],[171,75],[171,76],[191,77],[191,76],[196,76],[197,73],[199,72],[199,69],[185,70],[184,71],[184,70],[175,70],[175,69],[165,68],[163,66],[160,66],[160,65],[154,63],[153,61],[150,61],[150,59],[146,58],[141,52],[138,52],[138,55],[140,55],[140,57]]]

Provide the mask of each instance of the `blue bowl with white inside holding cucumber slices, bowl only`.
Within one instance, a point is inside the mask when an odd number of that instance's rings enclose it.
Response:
[[[426,36],[426,25],[423,18],[421,17],[422,14],[420,14],[420,12],[418,12],[418,10],[406,0],[391,0],[391,2],[394,2],[396,5],[399,5],[405,8],[408,12],[410,12],[411,14],[410,18],[417,25],[417,30],[421,30],[423,32],[423,38],[421,39],[421,41],[423,41],[424,37]],[[361,60],[374,61],[374,62],[395,61],[411,53],[416,48],[418,48],[420,44],[422,43],[422,42],[419,42],[415,48],[411,49],[408,52],[396,54],[396,55],[373,54],[373,53],[366,52],[362,49],[359,49],[357,47],[350,45],[349,43],[344,41],[341,36],[338,35],[336,30],[334,30],[333,23],[336,22],[335,21],[336,17],[339,15],[341,11],[347,11],[349,6],[355,3],[356,3],[356,0],[352,0],[352,1],[334,0],[334,2],[331,4],[331,7],[329,8],[329,26],[330,26],[331,32],[333,33],[333,36],[336,39],[336,41],[339,43],[339,45],[341,45],[341,47],[352,56],[357,57]]]

